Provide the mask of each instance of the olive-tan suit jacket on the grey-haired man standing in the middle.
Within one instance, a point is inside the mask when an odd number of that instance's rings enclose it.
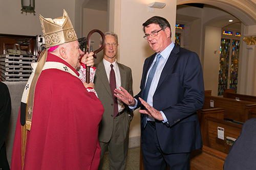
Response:
[[[121,86],[126,89],[133,96],[133,79],[132,70],[123,64],[117,63],[120,71]],[[113,132],[114,122],[114,101],[110,89],[108,77],[106,76],[105,67],[103,61],[96,64],[96,73],[94,78],[95,90],[98,93],[99,100],[104,107],[104,113],[102,115],[101,122],[99,124],[99,141],[109,142]],[[133,116],[133,112],[125,105],[124,113]],[[127,116],[125,116],[127,117]],[[128,127],[129,128],[129,127]],[[122,133],[122,132],[120,132]]]

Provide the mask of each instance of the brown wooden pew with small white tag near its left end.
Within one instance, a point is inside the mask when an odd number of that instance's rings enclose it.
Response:
[[[214,102],[214,107],[210,106]],[[237,101],[234,99],[220,98],[217,96],[205,95],[202,109],[224,108],[224,118],[244,123],[247,119],[256,117],[256,103]]]

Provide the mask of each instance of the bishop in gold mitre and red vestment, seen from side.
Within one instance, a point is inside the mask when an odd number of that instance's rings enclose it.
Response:
[[[21,106],[11,169],[97,169],[98,127],[104,108],[78,77],[82,52],[73,26],[65,10],[63,17],[40,16],[40,21],[47,50],[24,90],[26,113]],[[40,62],[44,63],[41,70]]]

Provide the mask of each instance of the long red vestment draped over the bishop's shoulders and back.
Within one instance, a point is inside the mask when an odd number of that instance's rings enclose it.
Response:
[[[47,61],[67,65],[48,53]],[[24,169],[98,169],[98,128],[103,106],[81,80],[60,69],[41,72],[35,87],[31,131],[27,134]],[[11,169],[22,169],[20,114]]]

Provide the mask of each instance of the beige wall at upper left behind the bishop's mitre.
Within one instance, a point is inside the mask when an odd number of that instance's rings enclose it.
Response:
[[[51,5],[49,5],[51,4]],[[56,18],[62,16],[65,9],[75,25],[75,0],[35,1],[35,14],[20,11],[22,9],[21,1],[1,0],[0,2],[0,33],[17,35],[42,35],[39,14],[46,18]]]

